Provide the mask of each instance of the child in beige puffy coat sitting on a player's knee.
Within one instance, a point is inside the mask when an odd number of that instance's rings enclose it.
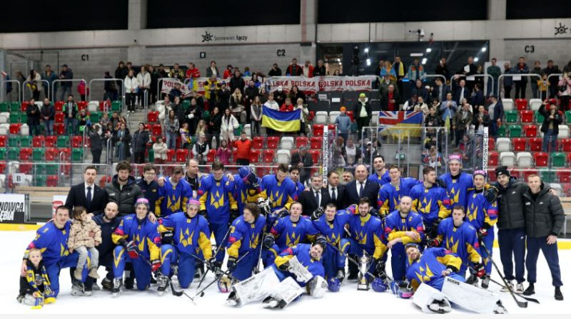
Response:
[[[95,234],[95,236],[91,237],[91,233]],[[77,268],[74,271],[74,277],[77,280],[81,281],[81,273],[87,262],[87,251],[91,253],[89,277],[99,278],[97,276],[99,252],[95,248],[98,244],[101,244],[101,229],[95,224],[95,221],[92,221],[87,216],[87,211],[84,207],[76,206],[74,208],[74,221],[71,223],[71,229],[69,229],[67,246],[70,253],[73,253],[74,250],[79,253]]]

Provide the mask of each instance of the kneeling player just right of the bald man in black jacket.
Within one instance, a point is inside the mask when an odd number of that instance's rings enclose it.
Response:
[[[111,235],[113,243],[117,245],[113,250],[113,296],[118,296],[123,287],[125,263],[133,265],[137,289],[140,291],[148,288],[151,272],[157,273],[161,267],[161,236],[157,231],[158,224],[148,220],[148,200],[137,199],[135,211],[136,214],[123,217]]]

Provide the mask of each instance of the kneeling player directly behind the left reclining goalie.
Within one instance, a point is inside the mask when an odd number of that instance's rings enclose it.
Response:
[[[290,215],[283,216],[276,220],[269,234],[263,239],[263,248],[267,249],[263,253],[264,264],[271,265],[278,254],[288,247],[295,246],[303,241],[315,241],[319,233],[311,219],[301,216],[303,206],[298,202],[293,202],[290,206]]]

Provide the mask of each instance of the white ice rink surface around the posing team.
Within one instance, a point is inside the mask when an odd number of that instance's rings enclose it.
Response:
[[[375,314],[405,314],[420,315],[420,308],[413,304],[411,300],[399,299],[390,292],[377,293],[372,289],[370,291],[357,291],[356,281],[345,281],[338,293],[326,293],[324,298],[313,299],[310,296],[303,296],[300,300],[291,303],[288,308],[283,310],[268,310],[261,307],[261,303],[244,305],[241,308],[233,308],[224,305],[227,294],[220,293],[216,284],[213,284],[203,298],[196,298],[196,305],[185,296],[173,296],[170,291],[165,296],[158,296],[156,286],[151,285],[148,291],[123,291],[117,298],[112,298],[108,291],[94,291],[91,297],[74,297],[70,295],[71,280],[69,270],[64,269],[60,276],[61,290],[56,303],[53,305],[45,305],[41,310],[31,310],[28,305],[21,305],[16,302],[16,296],[19,289],[19,268],[21,266],[21,256],[29,242],[34,239],[35,231],[0,231],[1,256],[0,259],[0,314],[4,315],[71,315],[74,313],[89,313],[90,315],[113,315],[110,318],[116,318],[115,315],[133,315],[141,313],[145,315],[164,315],[169,314],[192,314],[200,315],[273,315],[285,314],[300,315],[301,317],[292,318],[308,318],[306,316],[315,315],[347,315],[351,318],[363,315]],[[499,251],[494,249],[495,261],[501,268]],[[568,269],[571,269],[571,250],[560,250],[560,266],[562,272],[562,281],[568,284],[570,278]],[[389,257],[390,258],[390,257]],[[390,268],[390,262],[387,263]],[[388,270],[390,274],[390,270]],[[492,278],[496,281],[501,279],[495,271],[492,272]],[[105,270],[99,268],[99,276],[103,277]],[[213,280],[212,273],[206,276],[203,283],[210,283]],[[532,298],[540,300],[540,305],[529,303],[527,308],[518,308],[509,293],[500,293],[500,287],[490,282],[490,290],[500,294],[502,302],[510,314],[567,314],[571,315],[571,290],[567,290],[566,286],[562,287],[564,301],[556,301],[553,298],[553,286],[551,285],[551,276],[545,258],[540,254],[537,263],[537,281],[535,285],[535,295]],[[190,288],[186,289],[186,293],[194,296],[198,283],[193,283]],[[527,287],[527,283],[525,284]],[[453,307],[453,313],[468,314],[470,311],[463,308]],[[196,317],[195,317],[196,318]],[[231,317],[228,317],[231,318]]]

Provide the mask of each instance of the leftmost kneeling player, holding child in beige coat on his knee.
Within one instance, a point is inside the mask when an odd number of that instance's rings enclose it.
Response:
[[[66,206],[59,206],[56,208],[54,219],[36,231],[36,238],[26,248],[24,259],[22,260],[21,275],[26,276],[26,262],[28,261],[30,249],[36,248],[41,251],[46,273],[51,283],[51,290],[54,292],[54,298],[59,293],[59,273],[61,269],[75,267],[79,258],[79,253],[76,251],[69,253],[67,241],[70,227],[69,209]],[[83,284],[89,272],[90,258],[91,253],[88,253],[86,267],[81,274],[81,281],[72,279],[71,295],[73,296],[91,296],[91,291],[85,291]]]

